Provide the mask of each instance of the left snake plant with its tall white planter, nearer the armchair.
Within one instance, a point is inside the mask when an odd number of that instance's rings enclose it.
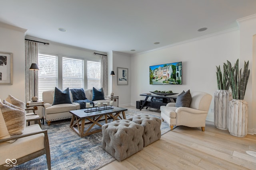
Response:
[[[232,93],[228,90],[226,70],[223,68],[222,76],[220,66],[216,68],[218,90],[214,93],[214,126],[221,130],[228,130],[228,104],[232,100]]]

